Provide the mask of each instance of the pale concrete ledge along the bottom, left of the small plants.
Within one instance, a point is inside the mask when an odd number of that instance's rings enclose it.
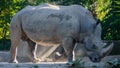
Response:
[[[69,68],[65,63],[41,63],[41,64],[32,64],[32,63],[0,63],[0,68]]]

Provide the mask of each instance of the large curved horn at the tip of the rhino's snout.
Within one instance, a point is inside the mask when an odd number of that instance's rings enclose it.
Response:
[[[107,54],[109,54],[113,48],[113,43],[111,43],[110,45],[106,45],[107,47],[103,47],[101,50],[101,57],[106,56]]]

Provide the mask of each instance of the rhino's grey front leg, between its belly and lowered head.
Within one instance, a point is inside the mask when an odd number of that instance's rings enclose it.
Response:
[[[66,52],[66,55],[67,55],[67,58],[68,58],[68,64],[72,65],[73,64],[73,59],[74,59],[73,49],[74,49],[74,46],[75,46],[75,41],[71,37],[66,37],[62,41],[62,45],[63,45],[63,48],[64,48],[64,50]]]

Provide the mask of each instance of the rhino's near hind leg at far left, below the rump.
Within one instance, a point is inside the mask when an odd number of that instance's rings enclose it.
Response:
[[[11,38],[11,48],[10,48],[10,63],[18,63],[17,61],[17,47],[21,38],[20,27],[15,23],[11,23],[10,26],[10,38]]]

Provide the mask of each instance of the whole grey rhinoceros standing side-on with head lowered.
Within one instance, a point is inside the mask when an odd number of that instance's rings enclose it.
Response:
[[[29,44],[29,58],[34,63],[37,44],[43,46],[62,45],[68,57],[68,63],[74,60],[74,46],[84,44],[87,55],[93,62],[99,62],[113,47],[106,46],[101,40],[100,21],[81,5],[57,6],[42,4],[27,6],[16,13],[10,23],[11,60],[16,59],[20,40]]]

